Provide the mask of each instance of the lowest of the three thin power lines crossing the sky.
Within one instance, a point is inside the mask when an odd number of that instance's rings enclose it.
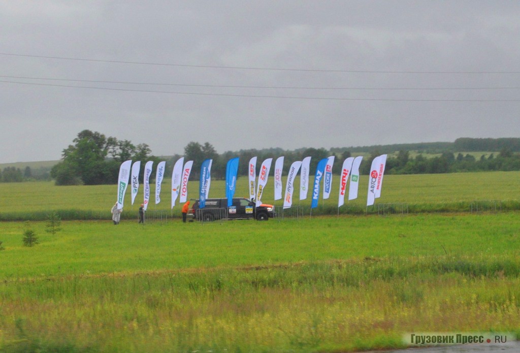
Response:
[[[196,92],[173,92],[173,91],[157,91],[146,89],[126,89],[126,88],[107,88],[107,87],[89,87],[89,86],[70,86],[46,83],[30,83],[30,82],[13,82],[3,81],[2,83],[12,83],[21,85],[34,86],[51,86],[66,88],[85,88],[85,89],[103,89],[127,92],[143,92],[143,93],[162,93],[175,95],[195,95],[195,96],[223,96],[223,97],[248,97],[248,98],[284,98],[284,99],[313,99],[313,100],[343,100],[343,101],[400,101],[400,102],[519,102],[520,99],[390,99],[390,98],[335,98],[335,97],[294,97],[294,96],[268,96],[268,95],[238,95],[238,94],[222,94],[222,93],[196,93]]]

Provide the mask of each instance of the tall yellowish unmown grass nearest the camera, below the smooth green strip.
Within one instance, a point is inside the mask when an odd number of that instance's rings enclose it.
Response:
[[[447,257],[2,284],[5,351],[351,351],[404,332],[516,331],[518,259]],[[474,273],[472,267],[481,269]]]

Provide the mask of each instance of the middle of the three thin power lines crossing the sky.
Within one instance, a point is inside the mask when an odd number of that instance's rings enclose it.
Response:
[[[296,87],[296,86],[241,86],[241,85],[202,85],[202,84],[179,84],[179,83],[153,83],[153,82],[126,82],[126,81],[98,81],[98,80],[76,80],[76,79],[56,79],[50,77],[26,77],[26,76],[5,76],[7,79],[23,80],[47,80],[47,81],[68,81],[68,82],[88,82],[88,83],[111,83],[128,85],[155,85],[155,86],[180,86],[180,87],[212,87],[212,88],[258,88],[258,89],[323,89],[323,90],[495,90],[495,89],[520,89],[519,87]]]

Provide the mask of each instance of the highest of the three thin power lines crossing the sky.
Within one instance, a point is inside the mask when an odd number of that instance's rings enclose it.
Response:
[[[192,65],[192,64],[160,63],[160,62],[144,62],[144,61],[100,60],[100,59],[67,58],[67,57],[43,56],[43,55],[23,55],[23,54],[11,54],[11,53],[0,53],[0,55],[27,57],[27,58],[54,59],[54,60],[75,60],[75,61],[108,62],[108,63],[119,63],[119,64],[154,65],[154,66],[171,66],[171,67],[205,68],[205,69],[233,69],[233,70],[384,73],[384,74],[517,74],[517,73],[520,73],[520,71],[388,71],[388,70],[379,71],[379,70],[260,68],[260,67],[240,67],[240,66]]]

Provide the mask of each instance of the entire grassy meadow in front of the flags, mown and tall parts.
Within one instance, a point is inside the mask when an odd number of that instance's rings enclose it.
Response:
[[[520,333],[518,213],[214,224],[3,223],[0,351],[404,347]]]

